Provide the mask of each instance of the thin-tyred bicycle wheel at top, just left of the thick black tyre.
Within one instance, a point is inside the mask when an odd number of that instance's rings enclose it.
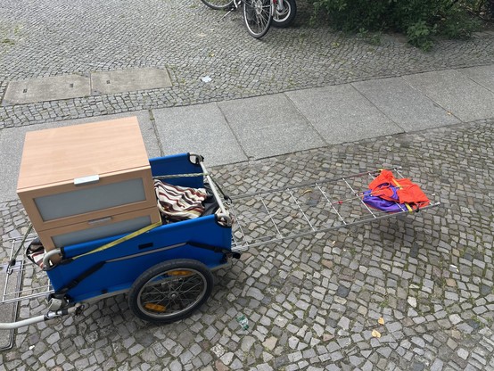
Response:
[[[243,21],[252,37],[266,35],[273,21],[271,0],[244,0]]]

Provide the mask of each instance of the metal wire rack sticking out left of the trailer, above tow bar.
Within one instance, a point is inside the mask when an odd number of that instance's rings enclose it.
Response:
[[[24,243],[24,246],[29,246],[30,241],[36,238],[37,235],[29,235]],[[22,242],[23,237],[12,238],[12,248],[9,260],[12,260],[14,251],[16,251]],[[22,301],[25,299],[34,299],[46,296],[48,293],[53,293],[52,286],[49,282],[45,271],[39,268],[31,260],[21,258],[24,251],[20,251],[19,259],[16,259],[12,267],[8,267],[8,262],[2,265],[0,274],[4,276],[4,283],[0,303],[6,304],[10,302]]]

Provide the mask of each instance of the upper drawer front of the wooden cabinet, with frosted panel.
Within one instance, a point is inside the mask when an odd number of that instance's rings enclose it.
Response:
[[[155,205],[151,169],[113,174],[82,185],[52,185],[19,194],[37,231]]]

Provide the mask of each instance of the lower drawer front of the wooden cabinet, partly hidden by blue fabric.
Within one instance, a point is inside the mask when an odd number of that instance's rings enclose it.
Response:
[[[46,251],[75,243],[84,243],[111,235],[131,233],[160,221],[157,208],[89,220],[71,226],[38,232]]]

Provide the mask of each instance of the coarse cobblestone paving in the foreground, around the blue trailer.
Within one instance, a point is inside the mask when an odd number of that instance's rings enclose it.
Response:
[[[442,207],[251,249],[215,274],[199,313],[169,326],[136,319],[121,295],[23,328],[0,353],[0,368],[492,370],[493,124],[218,167],[218,181],[243,194],[401,164]],[[27,219],[19,202],[0,210],[6,245]],[[20,317],[43,308],[22,301]]]

